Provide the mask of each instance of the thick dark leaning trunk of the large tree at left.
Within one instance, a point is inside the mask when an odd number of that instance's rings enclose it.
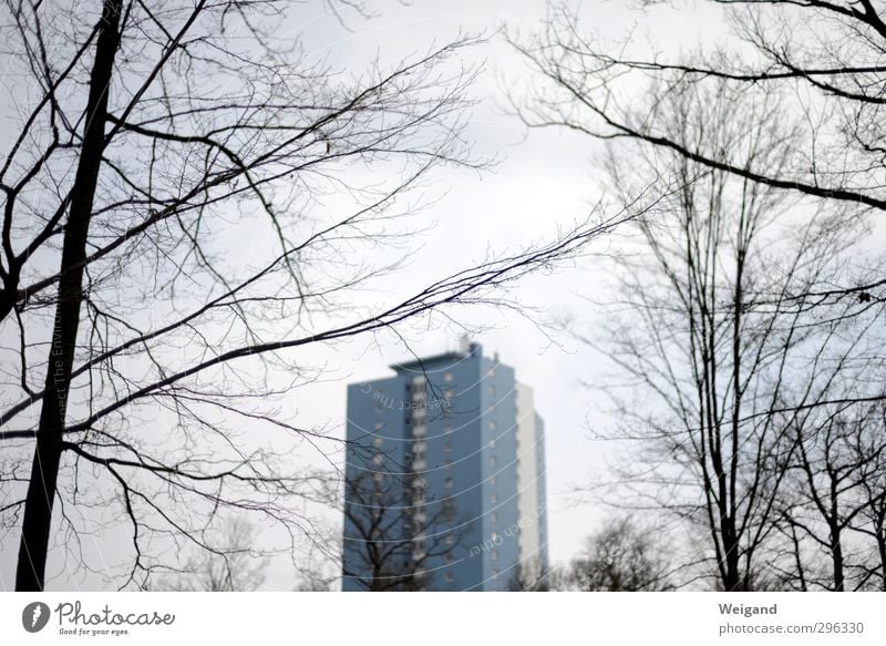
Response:
[[[55,307],[45,391],[40,409],[31,480],[24,503],[16,573],[17,591],[39,592],[44,585],[52,506],[62,453],[62,431],[74,362],[80,308],[83,301],[82,264],[86,256],[86,237],[105,145],[107,92],[113,74],[114,55],[120,44],[122,4],[122,0],[104,0],[102,18],[99,21],[83,144],[64,229],[62,278],[59,281],[59,301]],[[69,268],[70,270],[65,271]]]

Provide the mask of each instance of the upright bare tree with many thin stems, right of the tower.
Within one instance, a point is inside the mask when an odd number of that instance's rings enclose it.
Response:
[[[756,561],[803,461],[802,438],[818,432],[822,402],[863,397],[883,314],[857,315],[848,303],[822,325],[821,308],[791,296],[841,280],[858,239],[851,222],[833,236],[813,219],[779,258],[772,232],[754,222],[763,212],[753,185],[732,212],[719,202],[722,181],[692,183],[682,204],[640,224],[646,252],[621,265],[616,296],[630,314],[605,326],[602,346],[589,342],[620,375],[621,388],[604,389],[616,403],[614,437],[635,449],[618,471],[624,498],[704,526],[702,560],[715,563],[718,587],[759,589]]]

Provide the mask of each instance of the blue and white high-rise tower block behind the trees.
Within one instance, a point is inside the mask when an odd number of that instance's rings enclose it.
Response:
[[[503,591],[547,570],[544,424],[478,343],[348,387],[342,589]]]

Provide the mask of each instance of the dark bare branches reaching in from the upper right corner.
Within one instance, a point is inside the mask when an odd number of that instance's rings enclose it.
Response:
[[[557,90],[553,96],[539,90],[542,101],[522,106],[526,122],[641,140],[753,182],[885,209],[882,8],[870,2],[713,3],[730,6],[734,48],[711,45],[697,48],[698,55],[645,60],[607,50],[579,23],[571,3],[554,2],[545,31],[514,43],[549,81],[547,86]],[[703,141],[686,145],[669,135],[661,105],[636,94],[642,88],[662,95],[680,84],[712,88],[723,81],[736,112],[756,114],[753,106],[774,93],[790,104],[787,112],[806,116],[796,125],[800,141],[783,132],[785,139],[776,142],[790,153],[784,166],[773,172],[743,147],[714,150]]]

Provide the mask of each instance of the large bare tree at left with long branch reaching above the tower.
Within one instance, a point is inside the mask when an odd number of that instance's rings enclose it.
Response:
[[[44,588],[51,536],[83,560],[75,510],[92,531],[128,523],[121,587],[162,564],[156,540],[212,551],[222,511],[316,536],[295,501],[319,476],[291,454],[327,451],[286,396],[322,370],[296,350],[506,305],[635,214],[368,301],[429,173],[483,165],[462,137],[473,72],[452,64],[472,39],[346,75],[277,35],[298,8],[276,0],[4,7],[0,527],[18,589]]]

